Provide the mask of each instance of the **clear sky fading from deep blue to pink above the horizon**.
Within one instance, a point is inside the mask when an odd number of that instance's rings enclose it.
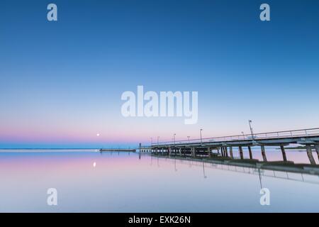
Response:
[[[314,128],[318,84],[319,1],[0,3],[0,148],[237,135],[249,118],[256,133]],[[198,91],[198,123],[123,118],[121,94],[138,85]]]

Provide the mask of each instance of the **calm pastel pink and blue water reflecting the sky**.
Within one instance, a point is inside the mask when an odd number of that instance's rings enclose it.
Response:
[[[267,155],[281,158],[278,150]],[[308,162],[306,153],[287,156]],[[0,182],[1,212],[319,211],[317,175],[259,175],[251,168],[138,153],[2,150]],[[259,203],[261,187],[270,190],[269,206]],[[47,205],[49,188],[57,189],[57,206]]]

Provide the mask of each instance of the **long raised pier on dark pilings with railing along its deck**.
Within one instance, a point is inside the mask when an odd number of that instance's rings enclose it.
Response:
[[[310,165],[317,165],[313,157],[313,150],[319,158],[319,128],[307,128],[291,131],[276,131],[256,134],[228,135],[215,138],[200,138],[195,140],[177,140],[162,143],[152,143],[151,145],[140,145],[140,153],[152,153],[153,155],[167,155],[192,158],[206,158],[223,160],[228,162],[249,162],[267,163],[267,146],[280,148],[282,160],[276,164],[293,163],[286,157],[287,145],[297,144],[306,148],[306,154]],[[262,153],[262,161],[254,159],[252,147],[259,147]],[[235,159],[233,148],[239,150],[240,159]],[[243,148],[249,151],[249,158],[244,158]]]

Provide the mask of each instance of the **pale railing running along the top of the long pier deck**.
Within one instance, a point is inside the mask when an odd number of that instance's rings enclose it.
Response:
[[[291,131],[276,131],[268,133],[242,134],[242,135],[228,135],[211,138],[196,138],[192,140],[173,140],[161,143],[153,143],[157,145],[179,145],[179,144],[193,144],[193,143],[213,143],[226,141],[247,141],[247,140],[264,140],[264,139],[278,139],[278,138],[308,138],[319,136],[319,128],[306,128]]]

